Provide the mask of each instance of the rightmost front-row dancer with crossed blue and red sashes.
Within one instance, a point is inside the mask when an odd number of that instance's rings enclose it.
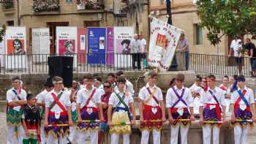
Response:
[[[237,88],[231,94],[231,122],[234,125],[235,144],[245,144],[249,124],[255,120],[255,98],[245,85],[244,75],[237,77]]]

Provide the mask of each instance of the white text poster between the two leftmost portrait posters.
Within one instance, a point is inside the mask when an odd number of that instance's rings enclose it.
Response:
[[[34,63],[43,63],[50,54],[50,31],[49,28],[32,29],[32,53]]]

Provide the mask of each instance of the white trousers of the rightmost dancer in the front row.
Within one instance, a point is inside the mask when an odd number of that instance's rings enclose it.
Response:
[[[235,144],[246,144],[248,129],[248,126],[244,128],[241,126],[234,126]]]

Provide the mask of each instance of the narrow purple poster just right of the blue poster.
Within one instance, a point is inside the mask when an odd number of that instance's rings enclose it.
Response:
[[[114,65],[114,29],[107,28],[107,58],[106,63],[110,66]]]

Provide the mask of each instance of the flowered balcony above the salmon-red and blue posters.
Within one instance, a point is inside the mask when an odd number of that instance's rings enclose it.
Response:
[[[77,0],[78,10],[104,10],[104,0]]]

